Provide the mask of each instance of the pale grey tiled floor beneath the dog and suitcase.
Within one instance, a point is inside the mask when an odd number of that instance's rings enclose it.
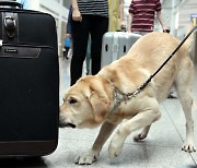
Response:
[[[69,63],[60,59],[60,99],[69,86]],[[197,65],[195,65],[197,86]],[[193,116],[195,121],[195,143],[197,146],[197,87],[194,87]],[[40,159],[0,160],[0,167],[35,168],[195,168],[197,153],[182,152],[185,139],[185,119],[177,99],[166,99],[162,105],[162,118],[155,122],[146,141],[136,143],[132,133],[126,141],[123,154],[114,159],[108,158],[108,143],[104,145],[97,161],[91,166],[74,165],[74,157],[89,149],[99,132],[95,130],[60,129],[57,149]],[[11,163],[13,161],[13,163]]]

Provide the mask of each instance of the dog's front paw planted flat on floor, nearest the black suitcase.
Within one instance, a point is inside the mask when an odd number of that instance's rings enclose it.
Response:
[[[74,163],[78,165],[91,165],[92,163],[96,161],[99,153],[95,151],[89,151],[81,156],[74,158]]]

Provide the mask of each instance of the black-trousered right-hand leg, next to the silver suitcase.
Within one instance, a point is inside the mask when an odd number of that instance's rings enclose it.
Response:
[[[108,19],[103,16],[92,15],[91,17],[91,59],[92,74],[96,74],[101,69],[101,50],[102,38],[107,32]]]

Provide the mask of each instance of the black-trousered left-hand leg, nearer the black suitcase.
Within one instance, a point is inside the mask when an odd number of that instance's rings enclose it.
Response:
[[[82,22],[71,21],[73,52],[70,64],[70,85],[73,85],[82,75],[89,37],[89,19],[88,15],[83,15]]]

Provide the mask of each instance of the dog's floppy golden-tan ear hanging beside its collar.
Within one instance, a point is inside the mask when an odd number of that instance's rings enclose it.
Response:
[[[102,122],[109,109],[109,100],[104,95],[93,92],[90,97],[90,103],[94,110],[95,121]]]

